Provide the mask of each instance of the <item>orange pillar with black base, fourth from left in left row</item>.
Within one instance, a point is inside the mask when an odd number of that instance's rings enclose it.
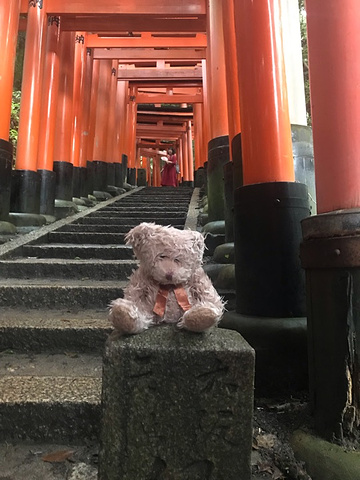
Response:
[[[71,163],[73,127],[75,32],[60,34],[60,78],[56,112],[54,171],[56,198],[72,201],[73,165]]]

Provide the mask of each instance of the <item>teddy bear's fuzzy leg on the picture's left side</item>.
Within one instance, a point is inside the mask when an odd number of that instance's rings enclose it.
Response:
[[[118,298],[111,302],[109,320],[121,334],[140,333],[146,330],[152,322],[151,317],[141,315],[139,309],[124,298]]]

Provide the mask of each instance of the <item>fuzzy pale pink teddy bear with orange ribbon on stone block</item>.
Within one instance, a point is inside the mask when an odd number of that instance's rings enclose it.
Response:
[[[109,319],[117,333],[136,334],[163,323],[203,332],[219,323],[225,304],[202,268],[200,232],[143,222],[125,240],[139,266],[124,298],[110,304]]]

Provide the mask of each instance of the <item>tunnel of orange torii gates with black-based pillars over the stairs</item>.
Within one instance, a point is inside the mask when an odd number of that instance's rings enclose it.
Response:
[[[341,438],[360,418],[360,2],[306,12],[312,129],[297,0],[1,1],[0,220],[125,180],[159,186],[174,145],[180,185],[206,180],[209,221],[231,225],[236,322],[280,319],[287,338],[307,317],[316,428]]]

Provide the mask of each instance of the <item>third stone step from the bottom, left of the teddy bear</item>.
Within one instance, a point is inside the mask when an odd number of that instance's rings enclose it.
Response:
[[[0,280],[0,307],[106,308],[123,296],[127,282],[78,279]]]

